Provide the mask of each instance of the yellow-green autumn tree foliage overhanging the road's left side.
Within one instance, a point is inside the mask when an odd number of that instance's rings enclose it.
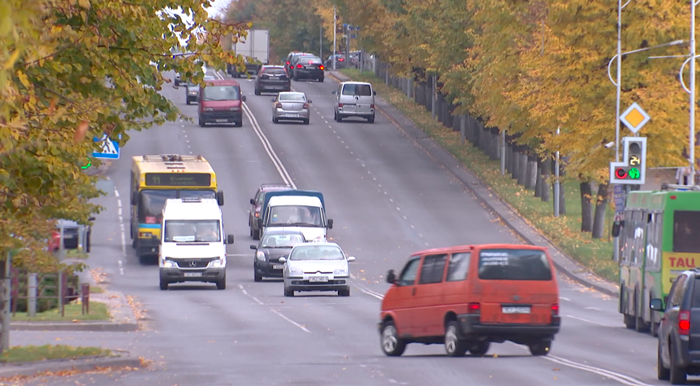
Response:
[[[234,60],[219,39],[240,25],[208,18],[208,1],[0,0],[0,252],[39,270],[54,219],[88,223],[100,208],[83,173],[93,137],[127,145],[133,130],[174,121],[164,71],[203,80],[201,59]],[[172,10],[179,10],[173,12]],[[179,35],[179,37],[178,37]],[[197,43],[199,38],[200,44]],[[173,56],[171,49],[193,52]],[[93,160],[93,163],[97,163]]]

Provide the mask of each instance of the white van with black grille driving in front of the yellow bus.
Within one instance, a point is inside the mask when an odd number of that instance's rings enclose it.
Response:
[[[160,289],[171,283],[198,281],[226,289],[224,219],[213,198],[171,198],[163,208],[158,266]]]

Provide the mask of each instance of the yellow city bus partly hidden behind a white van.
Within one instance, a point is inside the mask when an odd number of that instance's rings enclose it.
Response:
[[[158,255],[162,212],[168,198],[216,198],[216,173],[201,155],[143,155],[131,168],[131,239],[141,263]]]

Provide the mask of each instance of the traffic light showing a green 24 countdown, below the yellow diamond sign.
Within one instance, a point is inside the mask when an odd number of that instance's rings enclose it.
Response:
[[[646,180],[647,139],[622,138],[622,162],[610,163],[610,183],[642,185]]]

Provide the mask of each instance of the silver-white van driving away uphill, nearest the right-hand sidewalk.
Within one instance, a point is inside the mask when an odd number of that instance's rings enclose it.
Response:
[[[340,122],[343,118],[360,117],[374,123],[374,91],[372,84],[365,82],[343,82],[335,94],[333,118]]]

